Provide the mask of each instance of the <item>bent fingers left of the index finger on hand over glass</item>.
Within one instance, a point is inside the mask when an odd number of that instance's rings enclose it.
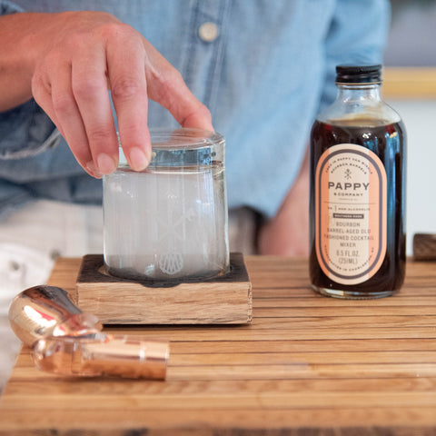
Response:
[[[104,51],[84,47],[70,63],[47,59],[34,75],[33,94],[64,136],[77,162],[100,178],[118,164],[106,78]]]

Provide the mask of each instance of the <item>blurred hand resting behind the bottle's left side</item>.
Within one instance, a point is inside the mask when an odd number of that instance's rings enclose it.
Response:
[[[309,153],[279,212],[263,225],[258,245],[261,254],[309,254]]]

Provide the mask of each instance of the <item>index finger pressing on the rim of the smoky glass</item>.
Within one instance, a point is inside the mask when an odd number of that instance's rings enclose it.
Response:
[[[144,45],[136,35],[107,45],[106,55],[112,99],[127,162],[135,171],[150,163],[152,146],[147,127],[148,95],[144,74]]]

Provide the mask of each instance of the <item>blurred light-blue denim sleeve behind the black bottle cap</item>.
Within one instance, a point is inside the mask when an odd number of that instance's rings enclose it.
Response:
[[[325,39],[320,111],[335,99],[338,64],[381,64],[391,20],[387,0],[338,0]]]

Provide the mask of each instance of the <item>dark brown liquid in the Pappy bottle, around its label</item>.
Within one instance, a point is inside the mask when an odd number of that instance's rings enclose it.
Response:
[[[311,255],[312,285],[320,291],[343,291],[350,298],[376,298],[400,290],[405,274],[405,133],[402,123],[371,126],[370,120],[353,119],[348,124],[316,121],[311,134]],[[341,125],[339,125],[341,124]],[[356,127],[357,125],[357,127]],[[365,126],[369,125],[369,126]],[[315,173],[325,150],[336,144],[358,144],[381,159],[387,175],[387,248],[381,267],[369,280],[346,285],[322,272],[315,250]],[[327,292],[326,292],[327,293]]]

